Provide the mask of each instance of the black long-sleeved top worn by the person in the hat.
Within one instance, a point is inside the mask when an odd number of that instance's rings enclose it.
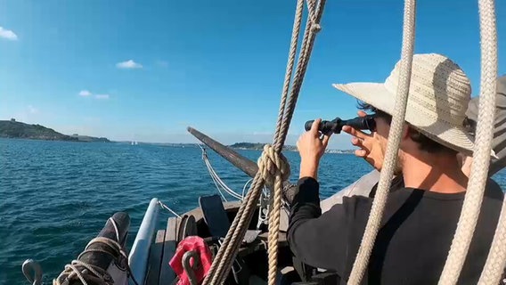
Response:
[[[437,284],[461,213],[465,192],[443,194],[403,188],[393,191],[363,284]],[[477,230],[459,284],[476,284],[486,262],[504,198],[487,185]],[[307,265],[335,271],[346,282],[363,237],[372,199],[345,197],[322,215],[319,184],[298,181],[288,230],[295,256]]]

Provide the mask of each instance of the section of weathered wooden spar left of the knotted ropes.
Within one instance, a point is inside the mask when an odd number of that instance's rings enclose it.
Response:
[[[213,149],[213,151],[216,151],[224,159],[241,169],[242,172],[249,175],[251,178],[257,175],[258,166],[255,162],[241,156],[237,151],[233,151],[233,149],[224,146],[220,142],[216,142],[206,134],[200,133],[198,130],[192,128],[192,126],[188,126],[187,130],[190,134],[193,134],[193,136],[199,139],[200,142],[203,142],[209,148]]]

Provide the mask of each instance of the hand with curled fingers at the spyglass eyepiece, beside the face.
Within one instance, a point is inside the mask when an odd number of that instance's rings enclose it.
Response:
[[[365,117],[366,115],[364,111],[358,111],[358,116]],[[342,130],[347,134],[351,134],[353,136],[351,143],[360,148],[360,150],[355,151],[355,156],[365,159],[372,167],[380,171],[383,167],[385,153],[381,148],[378,134],[376,132],[365,134],[351,126],[343,126]]]

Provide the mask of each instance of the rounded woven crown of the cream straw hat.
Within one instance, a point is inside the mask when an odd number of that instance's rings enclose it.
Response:
[[[399,78],[400,61],[385,81],[388,92],[397,93]],[[413,55],[406,111],[462,126],[470,94],[469,78],[456,63],[437,53]]]

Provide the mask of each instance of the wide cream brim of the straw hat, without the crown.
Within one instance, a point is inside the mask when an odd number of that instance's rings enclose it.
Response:
[[[333,86],[392,116],[394,114],[396,95],[390,93],[383,84],[360,82],[333,84]],[[466,132],[464,126],[452,126],[442,120],[430,122],[423,114],[420,114],[420,111],[413,110],[410,104],[407,106],[404,120],[417,128],[422,134],[427,135],[430,139],[448,148],[460,151],[466,155],[472,155],[474,151],[474,139]],[[495,157],[494,151],[492,151],[491,155]]]

